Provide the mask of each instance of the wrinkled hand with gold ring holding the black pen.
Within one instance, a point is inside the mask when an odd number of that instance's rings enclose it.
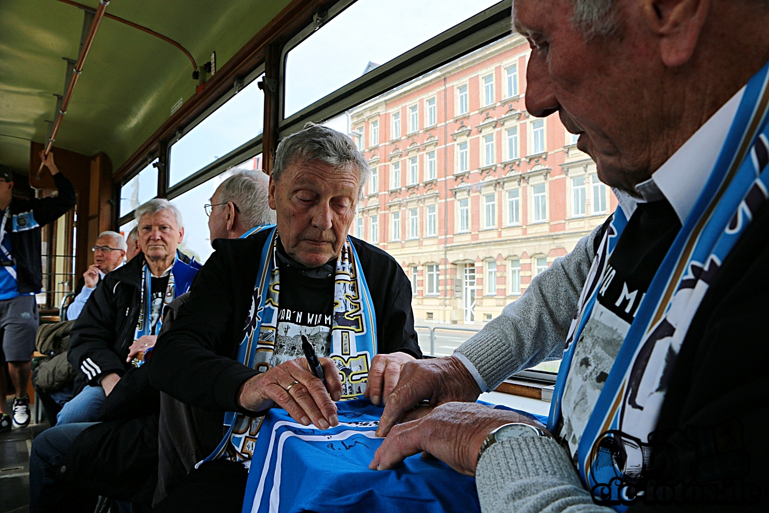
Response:
[[[339,419],[331,398],[334,401],[341,399],[339,371],[331,358],[319,359],[325,372],[328,391],[323,381],[309,371],[307,360],[296,358],[246,381],[238,393],[238,404],[248,411],[261,411],[275,403],[302,425],[309,425],[312,420],[321,429],[336,427]],[[287,391],[288,385],[294,381],[298,383]],[[331,398],[328,397],[329,393]]]

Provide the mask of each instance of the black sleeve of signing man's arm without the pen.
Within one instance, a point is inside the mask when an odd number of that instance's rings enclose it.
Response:
[[[401,271],[400,268],[397,271]],[[411,282],[405,275],[402,280],[394,281],[395,287],[400,287],[388,291],[392,300],[385,311],[384,323],[381,324],[384,332],[379,336],[379,352],[402,351],[414,358],[421,358],[422,351],[419,348],[417,331],[414,330],[414,311],[411,310]]]

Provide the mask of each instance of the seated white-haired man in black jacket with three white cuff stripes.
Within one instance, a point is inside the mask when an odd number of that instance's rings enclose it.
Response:
[[[178,208],[155,198],[135,216],[145,251],[105,278],[72,326],[68,360],[79,394],[59,412],[59,425],[96,420],[105,397],[138,363],[135,357],[155,345],[163,305],[173,301],[180,285],[171,269],[177,261],[190,263],[176,249],[185,233]]]

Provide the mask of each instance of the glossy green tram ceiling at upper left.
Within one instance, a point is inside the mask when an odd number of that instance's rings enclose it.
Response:
[[[0,2],[0,164],[29,169],[30,142],[44,143],[65,85],[67,62],[78,58],[84,11],[75,2]],[[98,0],[81,0],[95,9]],[[235,55],[290,0],[112,0],[108,14],[186,48],[198,67],[216,52],[218,67]],[[88,54],[55,147],[84,155],[105,152],[122,165],[195,95],[188,55],[172,43],[105,18]]]

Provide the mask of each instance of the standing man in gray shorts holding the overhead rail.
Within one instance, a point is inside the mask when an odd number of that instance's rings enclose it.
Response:
[[[38,331],[35,294],[43,286],[40,228],[77,202],[75,188],[58,171],[53,154],[48,153],[42,162],[58,188],[55,198],[14,198],[13,172],[0,166],[0,431],[10,430],[12,424],[25,427],[30,420],[27,385]],[[15,389],[13,418],[5,411],[6,361]]]

